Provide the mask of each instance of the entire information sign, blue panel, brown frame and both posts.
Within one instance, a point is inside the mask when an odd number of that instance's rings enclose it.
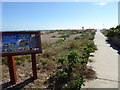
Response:
[[[0,32],[2,57],[7,56],[11,84],[17,82],[14,55],[31,54],[33,78],[37,79],[36,53],[42,53],[39,31]]]

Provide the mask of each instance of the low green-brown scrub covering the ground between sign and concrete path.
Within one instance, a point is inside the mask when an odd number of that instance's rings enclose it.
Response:
[[[46,86],[49,89],[78,89],[84,85],[86,80],[96,78],[95,71],[92,67],[87,66],[90,53],[96,50],[93,42],[95,31],[59,30],[49,33],[54,32],[58,32],[61,39],[53,43],[42,43],[43,53],[37,54],[38,77],[43,72],[48,75],[44,84],[38,81],[38,85]],[[75,34],[79,34],[79,36],[73,40],[66,39]],[[68,36],[66,37],[66,35]],[[23,66],[24,62],[31,62],[30,55],[15,56],[15,58],[18,66]],[[3,58],[2,61],[4,65],[7,64],[6,58]],[[37,84],[35,83],[35,85]]]

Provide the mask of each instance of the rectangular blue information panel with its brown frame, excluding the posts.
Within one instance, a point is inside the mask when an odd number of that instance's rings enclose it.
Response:
[[[42,52],[40,32],[3,32],[2,55]]]

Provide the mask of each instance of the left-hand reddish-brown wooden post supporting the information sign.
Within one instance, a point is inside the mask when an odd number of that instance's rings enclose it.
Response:
[[[15,64],[14,56],[7,56],[7,60],[8,60],[11,84],[15,84],[17,81],[17,75],[16,75],[16,64]]]

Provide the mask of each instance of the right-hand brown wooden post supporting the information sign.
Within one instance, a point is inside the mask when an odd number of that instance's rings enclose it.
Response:
[[[33,71],[33,78],[37,79],[37,68],[36,68],[36,55],[31,55],[32,59],[32,71]]]

